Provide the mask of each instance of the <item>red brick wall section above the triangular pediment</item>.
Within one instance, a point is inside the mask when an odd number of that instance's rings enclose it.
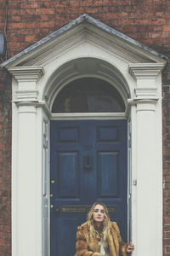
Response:
[[[169,0],[8,0],[8,55],[83,13],[170,54],[169,12]]]

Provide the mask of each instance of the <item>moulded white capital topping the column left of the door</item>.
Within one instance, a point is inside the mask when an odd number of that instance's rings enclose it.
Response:
[[[43,67],[9,67],[8,72],[20,82],[36,82],[44,74]]]

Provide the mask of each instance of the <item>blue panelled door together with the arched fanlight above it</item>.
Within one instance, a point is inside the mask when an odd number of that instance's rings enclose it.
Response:
[[[127,240],[125,112],[122,95],[104,79],[75,79],[56,94],[52,113],[70,113],[71,119],[50,122],[51,256],[74,255],[77,226],[94,201],[109,207]],[[87,117],[72,118],[73,113]]]

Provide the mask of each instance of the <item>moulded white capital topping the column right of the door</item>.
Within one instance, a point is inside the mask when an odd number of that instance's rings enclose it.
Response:
[[[132,63],[129,64],[129,73],[134,79],[156,79],[165,65],[163,63]]]

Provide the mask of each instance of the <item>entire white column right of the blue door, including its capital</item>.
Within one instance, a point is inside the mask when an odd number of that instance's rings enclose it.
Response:
[[[132,64],[136,79],[136,255],[162,253],[161,64]]]

